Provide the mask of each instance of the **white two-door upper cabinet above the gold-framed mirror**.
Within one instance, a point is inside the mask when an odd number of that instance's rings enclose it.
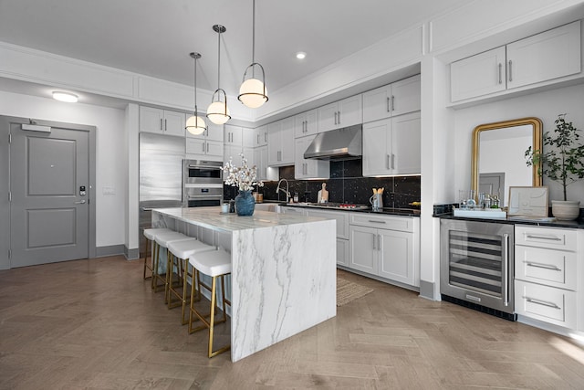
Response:
[[[497,47],[450,65],[452,102],[535,86],[581,72],[580,22]]]

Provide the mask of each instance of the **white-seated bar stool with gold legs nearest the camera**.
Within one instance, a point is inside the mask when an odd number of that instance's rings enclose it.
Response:
[[[189,258],[189,263],[193,266],[193,275],[197,274],[197,284],[199,285],[199,292],[201,287],[209,290],[211,292],[211,312],[208,316],[203,315],[200,311],[194,308],[194,283],[191,286],[191,304],[189,312],[189,333],[200,331],[204,328],[209,329],[209,349],[208,356],[211,358],[219,353],[224,353],[231,348],[231,343],[226,346],[213,351],[213,335],[214,335],[214,325],[215,323],[221,323],[227,321],[227,313],[225,311],[225,304],[231,306],[231,301],[225,298],[225,282],[224,276],[231,274],[231,255],[225,252],[223,249],[211,250],[201,253],[195,253]],[[210,276],[211,287],[202,283],[199,279],[199,274]],[[215,322],[215,306],[216,306],[216,290],[217,290],[217,278],[221,278],[221,295],[223,303],[223,319]],[[193,329],[193,313],[197,316],[198,320],[203,322],[203,325]],[[206,317],[209,317],[207,321]],[[196,321],[196,320],[195,320]]]

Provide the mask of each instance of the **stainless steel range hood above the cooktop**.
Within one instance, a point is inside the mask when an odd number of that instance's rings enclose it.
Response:
[[[318,160],[351,160],[361,158],[362,125],[320,132],[310,143],[304,158]]]

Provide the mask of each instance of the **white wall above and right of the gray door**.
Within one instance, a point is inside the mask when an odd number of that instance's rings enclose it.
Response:
[[[95,126],[96,132],[96,246],[124,244],[128,163],[124,149],[122,110],[0,91],[0,115]],[[103,195],[111,187],[114,195]]]

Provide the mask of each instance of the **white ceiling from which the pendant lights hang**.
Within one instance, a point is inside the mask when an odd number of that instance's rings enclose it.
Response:
[[[257,0],[255,60],[278,90],[466,0]],[[0,0],[0,41],[237,95],[252,62],[252,0]],[[295,58],[305,51],[304,61]]]

